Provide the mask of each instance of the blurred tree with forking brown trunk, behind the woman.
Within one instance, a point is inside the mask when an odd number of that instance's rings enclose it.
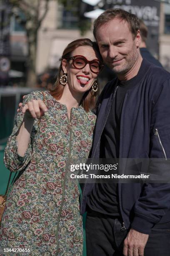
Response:
[[[80,0],[56,1],[62,4],[66,10],[70,11],[72,11],[73,7],[78,7],[77,10],[79,10],[81,2]],[[15,15],[17,22],[25,28],[28,38],[28,87],[35,87],[36,85],[35,63],[37,51],[37,32],[42,24],[42,21],[45,19],[49,9],[49,2],[50,0],[9,0],[9,3],[13,7],[12,13]],[[80,17],[79,11],[74,13],[74,15]],[[82,17],[80,20],[82,21]],[[90,25],[87,25],[84,21],[82,21],[79,28],[81,34],[83,34],[88,28],[90,28]]]

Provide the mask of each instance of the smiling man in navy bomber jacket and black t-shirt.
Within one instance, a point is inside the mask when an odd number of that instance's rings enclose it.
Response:
[[[93,33],[117,78],[97,102],[90,158],[167,159],[170,74],[142,59],[138,18],[108,9],[95,20]],[[87,181],[80,210],[87,210],[87,256],[169,256],[170,184]]]

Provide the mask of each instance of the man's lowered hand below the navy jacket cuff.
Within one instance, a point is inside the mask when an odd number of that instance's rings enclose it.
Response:
[[[124,241],[124,256],[144,256],[144,249],[149,235],[140,233],[133,228],[130,229]]]

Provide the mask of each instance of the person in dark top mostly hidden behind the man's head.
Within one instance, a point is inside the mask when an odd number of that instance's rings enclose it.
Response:
[[[148,51],[146,47],[146,40],[148,37],[148,28],[143,22],[143,20],[140,20],[140,54],[143,57],[143,59],[147,59],[150,63],[153,63],[157,65],[158,67],[163,67],[162,64],[158,61],[158,59],[155,59],[155,57]]]

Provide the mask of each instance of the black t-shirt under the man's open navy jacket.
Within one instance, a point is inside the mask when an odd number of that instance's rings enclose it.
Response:
[[[110,164],[115,164],[119,158],[122,105],[126,92],[135,86],[136,79],[137,76],[128,81],[118,81],[114,90],[112,106],[100,142],[100,158],[110,159]],[[102,183],[102,180],[101,183],[96,183],[87,199],[87,205],[96,212],[119,216],[117,184]]]

